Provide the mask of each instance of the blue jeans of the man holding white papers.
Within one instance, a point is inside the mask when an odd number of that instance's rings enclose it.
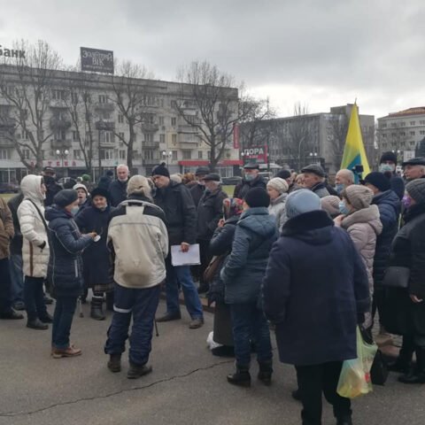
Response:
[[[204,317],[197,287],[193,282],[189,266],[173,267],[171,256],[166,259],[166,313],[179,313],[179,287],[182,287],[184,302],[192,319]]]

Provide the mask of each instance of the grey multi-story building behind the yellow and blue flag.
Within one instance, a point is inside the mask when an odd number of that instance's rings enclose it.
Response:
[[[270,164],[289,165],[298,170],[306,164],[321,162],[333,174],[341,165],[351,112],[352,104],[347,104],[332,107],[330,112],[261,121],[256,124],[258,131],[241,129],[243,149],[263,146]],[[359,122],[371,162],[375,151],[375,117],[359,115]],[[243,124],[247,128],[251,125]],[[251,160],[249,151],[247,155],[243,151],[243,158]]]

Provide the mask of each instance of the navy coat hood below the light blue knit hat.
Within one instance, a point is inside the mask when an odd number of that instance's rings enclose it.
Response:
[[[329,243],[336,231],[334,221],[326,211],[311,211],[299,214],[286,221],[282,228],[282,236],[293,237],[310,245]]]

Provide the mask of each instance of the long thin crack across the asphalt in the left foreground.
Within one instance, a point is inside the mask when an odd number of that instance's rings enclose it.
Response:
[[[18,416],[25,416],[25,415],[29,415],[29,414],[41,413],[41,412],[45,412],[47,410],[50,410],[50,409],[53,409],[53,408],[59,407],[59,406],[75,405],[77,403],[80,403],[81,401],[99,400],[99,399],[103,399],[103,398],[110,398],[110,397],[118,396],[118,395],[124,394],[126,392],[137,391],[137,390],[145,390],[147,388],[154,387],[155,385],[158,385],[160,383],[169,383],[169,382],[177,380],[177,379],[186,378],[187,376],[196,374],[197,372],[201,372],[201,371],[208,370],[208,369],[213,369],[214,367],[218,367],[218,366],[225,365],[225,364],[228,364],[228,363],[233,363],[233,362],[235,362],[235,359],[220,361],[219,363],[213,363],[213,365],[210,365],[210,366],[207,366],[207,367],[198,367],[197,369],[190,370],[186,374],[170,376],[168,378],[159,379],[158,381],[155,381],[154,383],[148,383],[146,385],[142,385],[142,386],[138,386],[138,387],[124,388],[124,389],[121,389],[121,390],[118,390],[118,391],[109,392],[109,393],[104,394],[102,396],[77,398],[75,400],[69,400],[69,401],[64,401],[62,403],[56,403],[56,404],[53,404],[53,405],[50,405],[50,406],[44,406],[44,407],[41,407],[39,409],[30,410],[30,411],[27,411],[27,412],[4,412],[4,413],[0,413],[0,418],[8,418],[8,417],[12,418],[12,417],[18,417]]]

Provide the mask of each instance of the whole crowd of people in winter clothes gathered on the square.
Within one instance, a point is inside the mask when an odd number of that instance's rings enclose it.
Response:
[[[425,158],[403,163],[403,177],[397,163],[386,152],[379,171],[359,180],[343,169],[335,185],[320,164],[268,181],[246,164],[233,197],[207,167],[170,175],[163,163],[130,177],[121,165],[117,179],[108,172],[91,188],[63,188],[46,167],[7,204],[0,198],[0,318],[25,310],[28,328],[51,323],[53,358],[78,356],[73,314],[91,289],[91,318],[105,319],[104,301],[113,311],[107,367],[120,372],[130,333],[134,379],[151,372],[155,321],[181,320],[182,290],[189,328],[203,327],[205,293],[215,305],[212,352],[236,359],[228,383],[251,385],[252,352],[259,382],[272,383],[274,328],[279,359],[296,367],[303,424],[321,423],[322,393],[337,424],[351,424],[336,387],[344,360],[357,356],[357,327],[381,343],[403,336],[389,368],[401,383],[425,383]],[[195,243],[200,265],[174,266],[170,247]],[[156,318],[161,288],[166,313]]]

